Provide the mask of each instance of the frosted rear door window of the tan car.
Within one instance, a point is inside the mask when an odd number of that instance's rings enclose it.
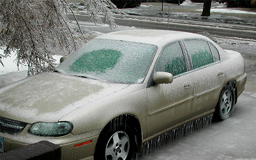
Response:
[[[207,41],[197,39],[187,39],[185,44],[191,58],[193,68],[200,68],[214,62],[210,47]]]

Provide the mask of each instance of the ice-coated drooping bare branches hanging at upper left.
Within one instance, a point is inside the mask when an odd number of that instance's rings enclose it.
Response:
[[[93,21],[101,22],[102,14],[115,26],[110,0],[83,3]],[[73,13],[66,0],[0,0],[0,63],[15,51],[17,67],[28,66],[28,75],[52,70],[56,48],[68,55],[86,42],[82,31],[72,28],[68,12]]]

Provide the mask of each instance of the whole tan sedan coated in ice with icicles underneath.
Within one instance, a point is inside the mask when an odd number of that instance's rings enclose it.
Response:
[[[229,118],[246,77],[239,52],[201,35],[104,34],[1,89],[0,137],[5,151],[47,140],[62,159],[127,160]]]

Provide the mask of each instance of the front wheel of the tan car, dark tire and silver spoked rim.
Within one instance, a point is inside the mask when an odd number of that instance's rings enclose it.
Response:
[[[130,125],[104,128],[96,144],[95,160],[131,160],[135,136]]]

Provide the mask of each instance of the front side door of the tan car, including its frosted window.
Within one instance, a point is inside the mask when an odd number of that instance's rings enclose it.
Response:
[[[148,87],[147,137],[175,126],[189,119],[193,110],[194,80],[187,72],[186,61],[179,42],[166,45],[155,66],[158,71],[174,76],[173,83],[156,84]]]

